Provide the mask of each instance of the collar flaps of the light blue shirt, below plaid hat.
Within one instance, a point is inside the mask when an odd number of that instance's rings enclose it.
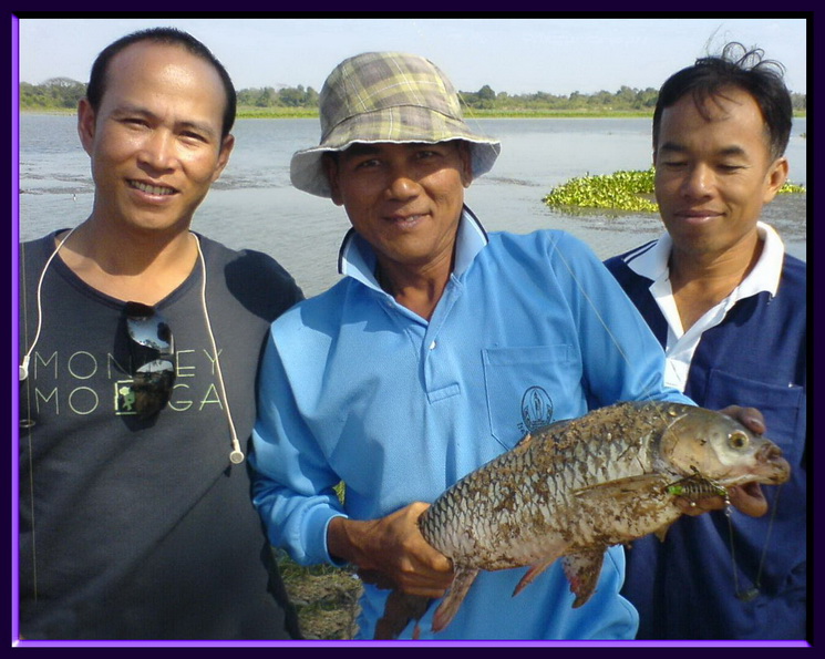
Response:
[[[464,206],[455,238],[455,267],[453,268],[455,277],[464,274],[487,241],[487,233],[482,223],[470,208]],[[381,290],[375,279],[375,251],[372,246],[355,229],[347,231],[338,254],[338,271],[357,279],[364,286]]]

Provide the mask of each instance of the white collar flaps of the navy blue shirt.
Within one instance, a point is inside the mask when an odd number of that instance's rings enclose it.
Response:
[[[782,275],[782,261],[785,256],[785,245],[775,229],[763,222],[756,223],[756,231],[763,240],[762,254],[754,266],[738,287],[736,298],[744,298],[767,291],[776,295]],[[625,262],[637,275],[658,281],[668,275],[668,260],[673,247],[669,234],[658,240],[642,245],[625,257]]]

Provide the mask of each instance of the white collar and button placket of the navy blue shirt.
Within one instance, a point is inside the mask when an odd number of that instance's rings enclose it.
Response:
[[[731,295],[705,311],[687,332],[682,328],[682,321],[673,299],[673,290],[670,286],[668,261],[673,246],[670,235],[664,234],[650,249],[628,261],[628,267],[635,272],[653,280],[650,285],[650,292],[668,322],[668,340],[664,348],[666,385],[684,391],[690,362],[702,333],[721,323],[728,311],[739,300],[762,291],[767,291],[771,296],[776,295],[785,246],[782,238],[770,225],[760,222],[756,224],[756,230],[763,240],[763,247],[762,255],[753,270],[733,289]]]

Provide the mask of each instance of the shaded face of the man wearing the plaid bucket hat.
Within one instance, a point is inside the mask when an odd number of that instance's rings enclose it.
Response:
[[[355,144],[327,163],[332,200],[382,265],[450,264],[472,179],[465,143]]]

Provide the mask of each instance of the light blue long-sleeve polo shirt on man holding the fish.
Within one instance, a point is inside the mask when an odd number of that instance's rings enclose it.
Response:
[[[566,233],[487,236],[465,209],[429,322],[385,294],[374,269],[372,249],[350,233],[346,277],[279,318],[264,357],[255,504],[270,540],[301,564],[333,563],[334,516],[373,519],[432,502],[532,428],[621,400],[690,402],[663,388],[647,323]],[[343,507],[332,490],[340,481]],[[578,609],[559,563],[517,597],[524,569],[482,573],[434,638],[632,638],[638,617],[618,594],[622,549],[608,552]],[[365,586],[361,637],[372,637],[386,595]],[[434,608],[421,638],[433,638]]]

